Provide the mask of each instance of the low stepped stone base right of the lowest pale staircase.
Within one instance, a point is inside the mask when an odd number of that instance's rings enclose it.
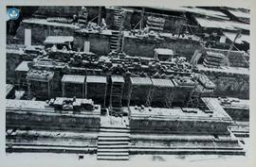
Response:
[[[180,155],[180,159],[184,155],[245,155],[237,139],[230,135],[132,133],[130,141],[130,155],[149,154],[163,161],[160,155]]]

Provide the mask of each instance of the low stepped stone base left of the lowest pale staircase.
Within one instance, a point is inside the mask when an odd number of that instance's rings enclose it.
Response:
[[[86,133],[73,136],[66,135],[66,131],[57,133],[54,131],[16,130],[15,135],[7,135],[6,143],[11,145],[6,152],[37,152],[37,153],[73,153],[73,154],[96,154],[98,133]],[[44,131],[43,131],[44,133]],[[81,134],[81,133],[78,133]]]

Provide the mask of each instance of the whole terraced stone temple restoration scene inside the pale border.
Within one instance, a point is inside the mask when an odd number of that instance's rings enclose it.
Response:
[[[247,157],[248,9],[9,8],[7,154]]]

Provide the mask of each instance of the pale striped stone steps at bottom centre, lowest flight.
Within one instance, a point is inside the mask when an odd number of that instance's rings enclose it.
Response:
[[[101,126],[98,137],[97,159],[128,160],[130,135],[126,126]]]

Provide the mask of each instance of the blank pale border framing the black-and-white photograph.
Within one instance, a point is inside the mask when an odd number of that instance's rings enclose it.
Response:
[[[87,161],[84,163],[77,163],[70,161],[69,159],[29,159],[29,157],[23,157],[21,154],[20,159],[9,159],[5,153],[5,129],[6,129],[6,109],[5,109],[5,97],[6,97],[6,15],[7,6],[157,6],[157,7],[178,7],[178,6],[226,6],[233,8],[249,8],[250,9],[250,134],[249,134],[249,151],[248,151],[248,161],[229,161],[223,162],[216,160],[215,162],[207,160],[196,162],[196,163],[165,163],[165,162],[153,162],[153,161],[97,161],[95,159]],[[4,0],[1,2],[1,26],[0,26],[0,167],[6,166],[17,166],[17,167],[28,167],[28,166],[256,166],[256,157],[254,156],[256,150],[256,61],[255,53],[256,47],[256,1],[254,0]],[[255,121],[254,121],[255,120]]]

